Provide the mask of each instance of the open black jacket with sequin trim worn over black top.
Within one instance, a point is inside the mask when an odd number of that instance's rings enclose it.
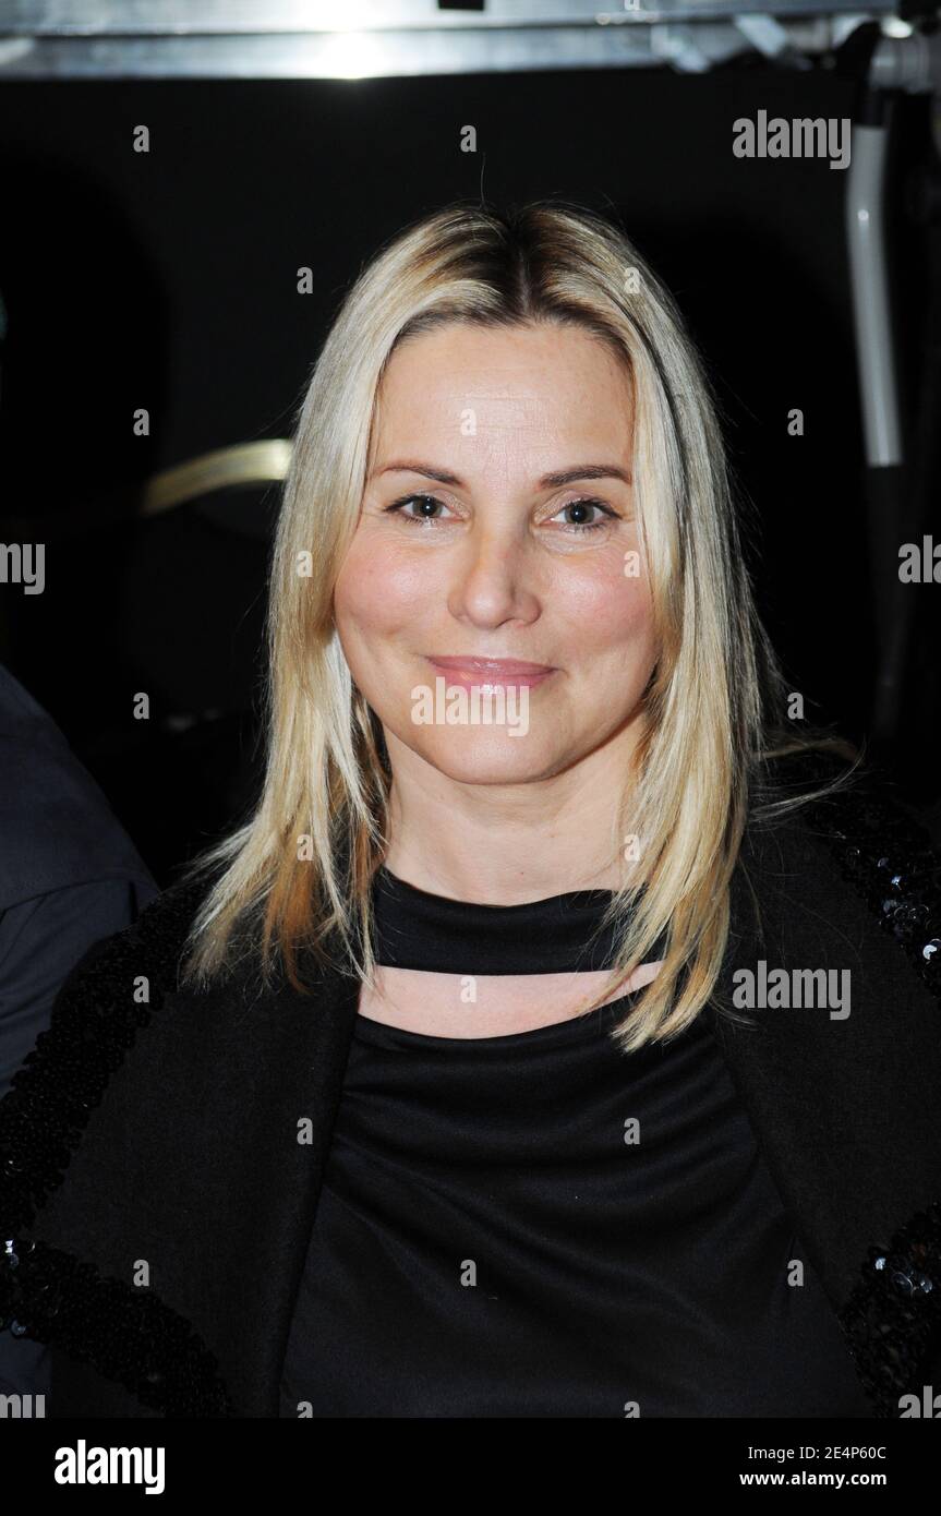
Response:
[[[882,1417],[941,1390],[938,870],[865,791],[753,823],[720,988],[849,969],[852,1010],[702,1013]],[[180,993],[195,904],[91,949],[0,1102],[0,1328],[50,1343],[52,1416],[277,1416],[358,984]]]

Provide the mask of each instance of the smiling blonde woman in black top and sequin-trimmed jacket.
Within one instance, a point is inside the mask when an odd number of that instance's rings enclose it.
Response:
[[[270,619],[256,813],[0,1107],[50,1413],[905,1414],[936,860],[794,737],[620,229],[458,205],[371,262]]]

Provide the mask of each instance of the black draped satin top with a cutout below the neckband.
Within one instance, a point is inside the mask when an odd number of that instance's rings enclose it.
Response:
[[[562,972],[608,901],[382,870],[377,960]],[[358,1019],[282,1416],[873,1414],[705,1014],[624,1055],[635,999],[508,1037]]]

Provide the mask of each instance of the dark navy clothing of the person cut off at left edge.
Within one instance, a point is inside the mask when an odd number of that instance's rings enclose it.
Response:
[[[0,664],[0,1096],[68,972],[158,893],[59,728]],[[48,1352],[0,1331],[0,1393],[47,1389]]]

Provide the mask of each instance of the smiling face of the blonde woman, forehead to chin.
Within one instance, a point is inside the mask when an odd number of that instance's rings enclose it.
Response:
[[[633,746],[656,649],[630,471],[630,382],[583,329],[453,323],[395,350],[333,597],[392,767],[402,743],[514,784]]]

